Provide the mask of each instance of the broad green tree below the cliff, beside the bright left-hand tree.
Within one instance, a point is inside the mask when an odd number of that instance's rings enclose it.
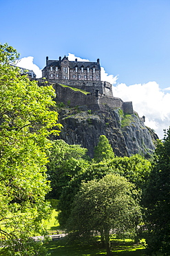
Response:
[[[52,191],[48,196],[59,199],[62,189],[76,175],[81,174],[85,166],[87,149],[80,145],[68,145],[64,140],[54,140],[48,151],[49,163],[47,174],[49,175]]]

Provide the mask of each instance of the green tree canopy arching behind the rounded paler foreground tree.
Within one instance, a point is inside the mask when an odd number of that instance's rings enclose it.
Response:
[[[142,191],[145,189],[146,181],[149,178],[150,170],[151,163],[139,155],[115,157],[100,163],[92,161],[92,163],[86,165],[82,174],[76,174],[62,190],[58,205],[61,226],[65,226],[65,222],[70,215],[74,196],[80,189],[82,181],[100,180],[106,174],[119,174],[134,183],[136,190],[138,190],[136,196],[140,199]]]

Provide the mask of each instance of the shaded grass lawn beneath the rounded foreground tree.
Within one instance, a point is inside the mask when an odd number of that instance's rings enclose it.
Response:
[[[50,241],[47,245],[52,256],[100,256],[106,255],[99,241],[89,244],[67,244],[67,238],[59,241]],[[141,244],[136,245],[130,240],[112,241],[113,256],[144,256],[145,247]]]

